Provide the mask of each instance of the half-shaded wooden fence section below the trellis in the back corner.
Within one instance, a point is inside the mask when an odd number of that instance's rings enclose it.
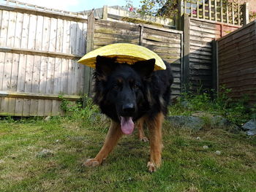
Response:
[[[239,26],[184,17],[184,84],[190,91],[216,88],[214,40]]]

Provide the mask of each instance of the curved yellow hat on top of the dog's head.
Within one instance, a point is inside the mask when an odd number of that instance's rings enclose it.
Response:
[[[154,58],[156,60],[154,70],[166,69],[164,61],[162,61],[162,58],[157,53],[148,50],[146,47],[129,43],[115,43],[99,47],[97,50],[93,50],[80,58],[78,63],[95,68],[97,55],[116,58],[117,62],[127,64],[134,64],[136,61]]]

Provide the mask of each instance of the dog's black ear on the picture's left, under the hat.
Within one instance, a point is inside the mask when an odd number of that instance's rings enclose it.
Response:
[[[107,58],[97,55],[96,72],[101,77],[107,77],[114,69],[116,69],[116,58]]]

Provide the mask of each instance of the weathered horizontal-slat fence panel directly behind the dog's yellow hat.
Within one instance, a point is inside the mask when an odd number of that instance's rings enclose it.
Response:
[[[174,75],[173,97],[175,97],[181,93],[182,36],[182,31],[169,28],[94,20],[92,50],[116,42],[128,42],[148,47],[171,64]],[[90,88],[86,87],[86,90],[90,91],[91,83],[88,86]]]

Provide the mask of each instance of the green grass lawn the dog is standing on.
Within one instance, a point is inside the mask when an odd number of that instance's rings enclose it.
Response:
[[[256,191],[256,137],[165,123],[157,172],[147,171],[149,146],[137,131],[102,166],[81,166],[102,147],[107,126],[67,118],[1,120],[0,191]],[[43,149],[52,153],[40,155]]]

